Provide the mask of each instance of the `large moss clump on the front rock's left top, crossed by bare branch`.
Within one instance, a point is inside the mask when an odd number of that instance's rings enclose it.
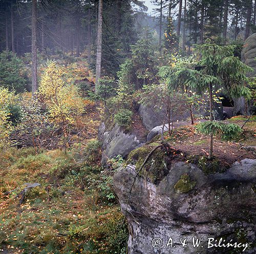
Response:
[[[145,161],[148,154],[151,153],[152,149],[155,146],[159,145],[158,143],[152,143],[143,147],[139,147],[133,151],[128,156],[127,162],[134,163],[137,170],[141,167]],[[163,179],[168,173],[169,159],[166,156],[165,152],[158,148],[154,151],[152,156],[148,159],[147,163],[144,165],[139,175],[146,177],[152,183],[156,184]]]

